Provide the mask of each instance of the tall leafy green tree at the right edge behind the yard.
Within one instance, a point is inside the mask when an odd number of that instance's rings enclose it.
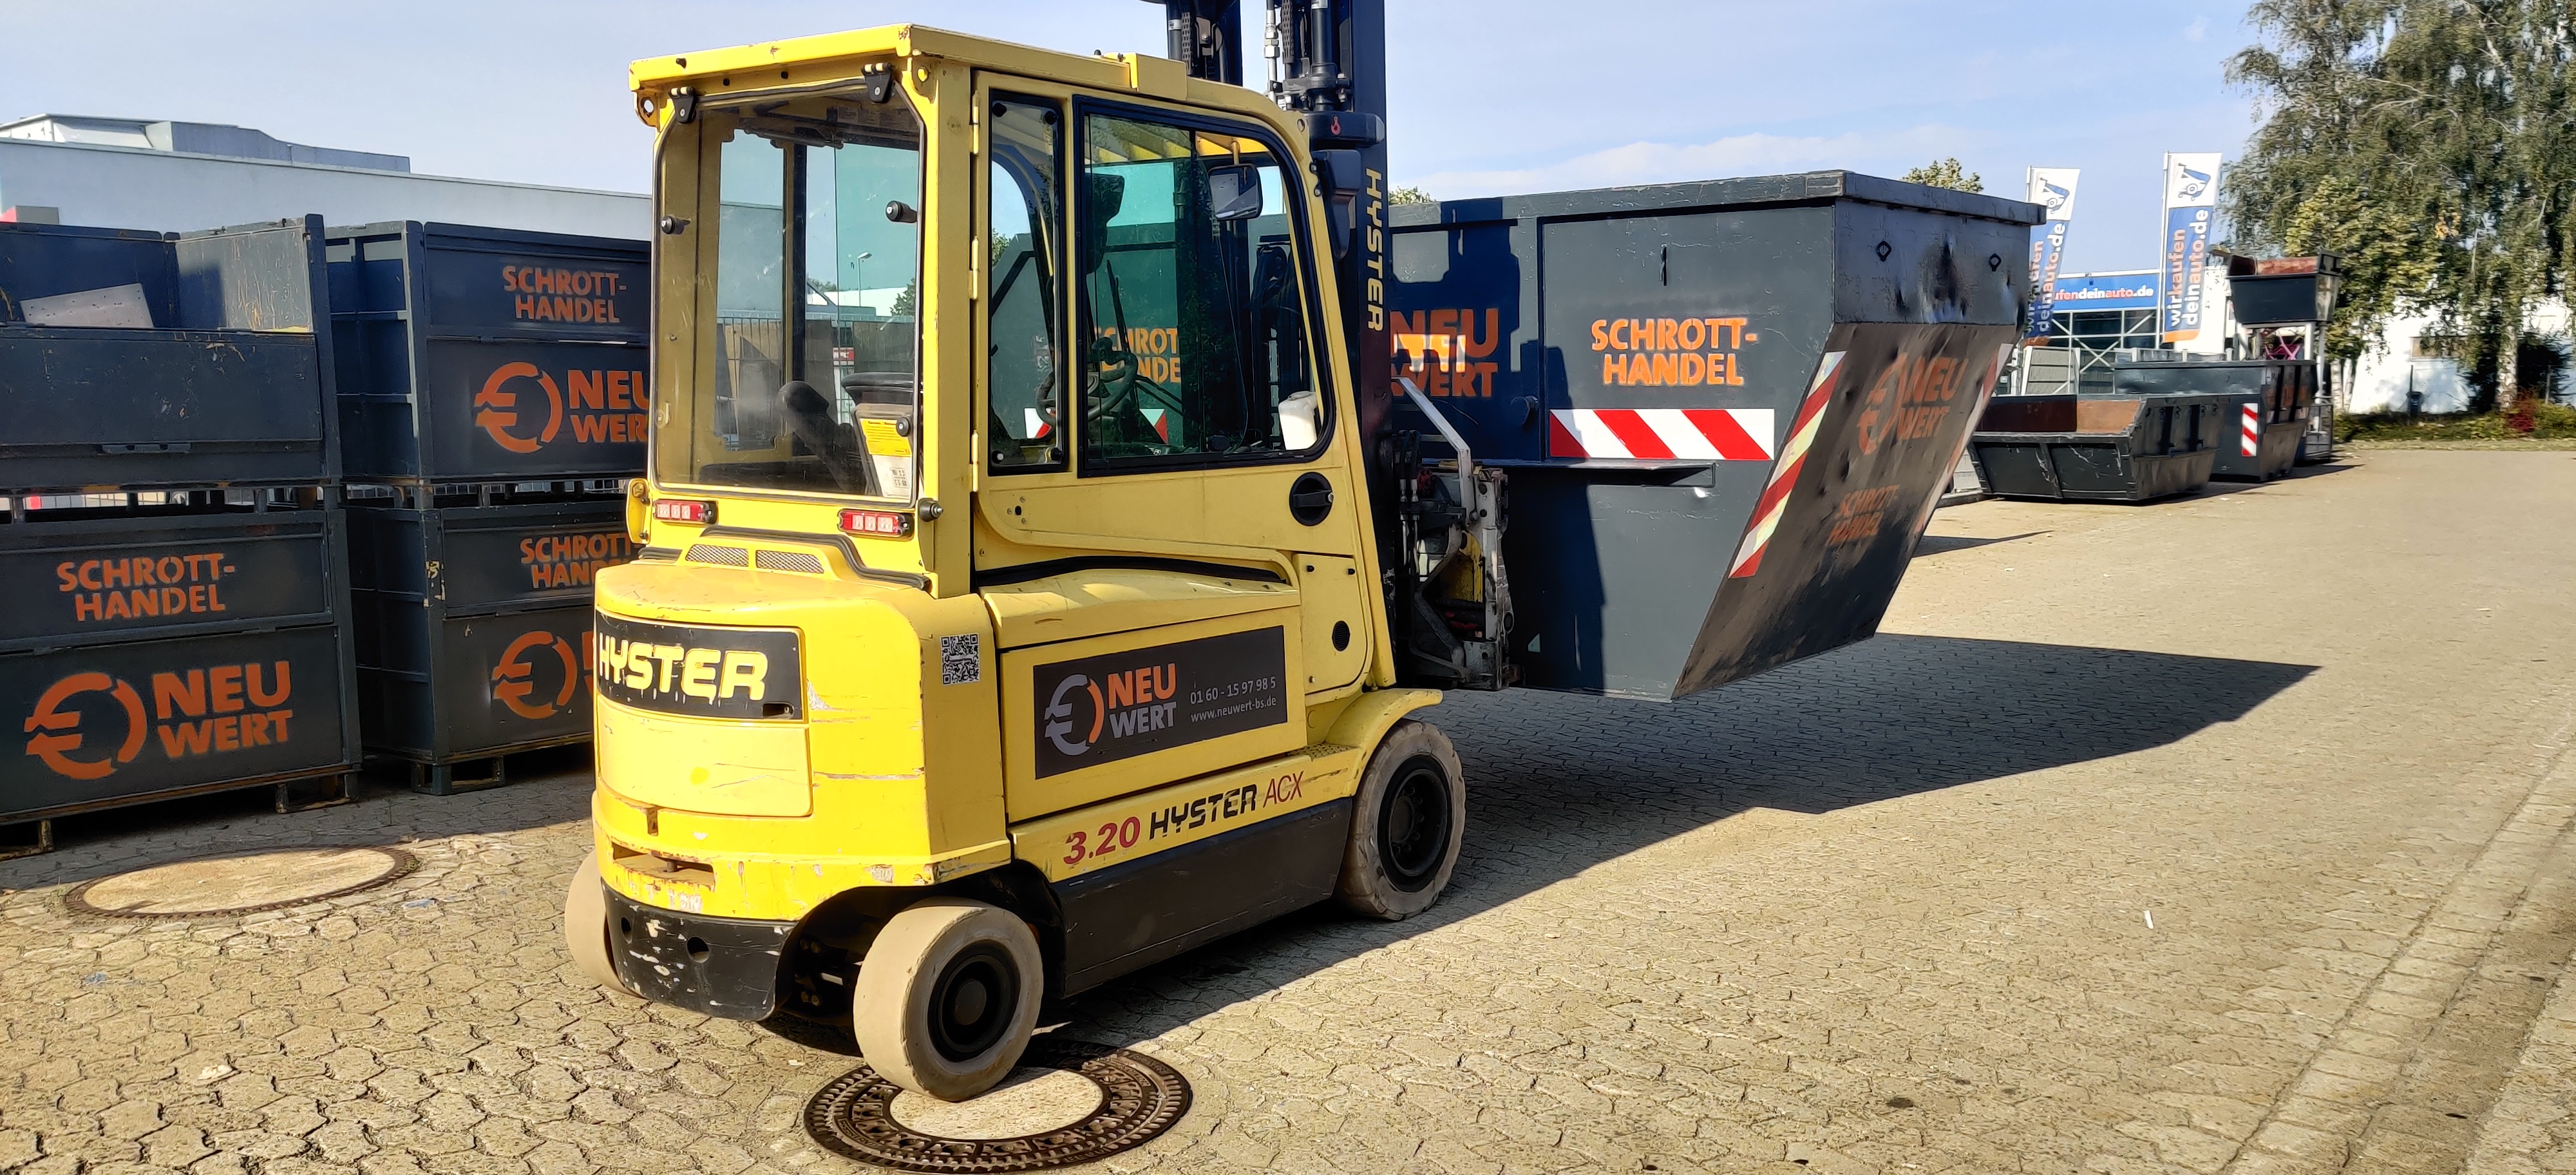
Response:
[[[2257,0],[2228,62],[2262,126],[2228,183],[2239,247],[2339,253],[2326,350],[2391,314],[2460,338],[2481,407],[2519,397],[2532,307],[2568,278],[2571,0]]]

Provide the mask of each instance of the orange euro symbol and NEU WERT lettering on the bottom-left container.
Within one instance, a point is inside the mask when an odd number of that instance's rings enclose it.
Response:
[[[124,721],[111,755],[75,758],[75,752],[111,745],[108,740],[90,742],[90,734],[106,732],[82,729],[95,714],[95,709],[75,703],[85,693],[106,693],[121,711]],[[155,673],[147,721],[144,698],[134,683],[106,673],[72,673],[36,698],[36,711],[26,719],[31,734],[26,752],[64,778],[106,778],[144,752],[147,729],[157,734],[162,755],[173,760],[283,745],[286,724],[296,716],[286,709],[291,696],[294,670],[289,662]]]

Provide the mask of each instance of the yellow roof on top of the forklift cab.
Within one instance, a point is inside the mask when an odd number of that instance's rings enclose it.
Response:
[[[696,88],[701,95],[827,85],[842,77],[858,77],[860,64],[884,62],[886,57],[930,57],[966,64],[971,70],[1043,77],[1092,90],[1128,90],[1146,98],[1252,113],[1270,121],[1280,134],[1291,134],[1288,116],[1267,98],[1244,90],[1242,85],[1190,77],[1190,72],[1170,57],[1084,57],[912,23],[796,36],[786,41],[737,44],[732,49],[701,49],[672,57],[647,57],[626,67],[626,82],[639,100],[659,103],[670,95],[670,90],[683,85]]]

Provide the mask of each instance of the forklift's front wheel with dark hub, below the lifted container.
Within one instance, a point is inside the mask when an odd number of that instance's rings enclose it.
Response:
[[[1396,721],[1352,796],[1350,848],[1334,897],[1358,915],[1396,922],[1440,899],[1466,840],[1466,776],[1458,750],[1430,721]]]

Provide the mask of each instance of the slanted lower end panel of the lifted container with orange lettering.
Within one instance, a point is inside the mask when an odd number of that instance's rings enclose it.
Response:
[[[1837,325],[1677,693],[1878,631],[2012,327]]]

